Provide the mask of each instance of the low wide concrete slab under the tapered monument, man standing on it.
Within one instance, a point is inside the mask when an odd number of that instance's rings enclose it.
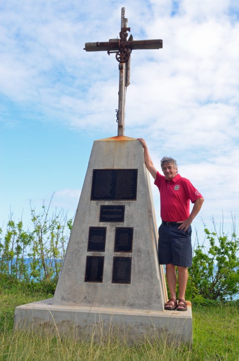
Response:
[[[192,309],[179,311],[126,310],[63,306],[53,298],[16,307],[15,330],[47,331],[60,336],[96,342],[116,337],[128,345],[163,340],[192,344]]]

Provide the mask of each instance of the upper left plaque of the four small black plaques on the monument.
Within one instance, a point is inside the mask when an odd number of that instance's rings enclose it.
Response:
[[[87,251],[104,252],[106,227],[90,227]]]

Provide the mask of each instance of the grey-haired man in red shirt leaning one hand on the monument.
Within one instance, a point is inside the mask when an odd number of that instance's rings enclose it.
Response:
[[[177,162],[173,158],[161,160],[161,175],[150,157],[146,142],[138,138],[144,149],[144,161],[155,179],[160,192],[159,227],[159,264],[166,265],[166,277],[170,299],[165,303],[165,310],[186,311],[185,291],[187,286],[187,267],[192,266],[191,223],[201,209],[204,198],[186,178],[178,174]],[[189,212],[189,201],[194,203]],[[176,298],[176,268],[179,278],[179,302]]]

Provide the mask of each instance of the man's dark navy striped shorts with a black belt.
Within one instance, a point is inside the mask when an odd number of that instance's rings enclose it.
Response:
[[[180,225],[180,224],[179,224]],[[192,227],[187,231],[178,229],[179,225],[159,227],[159,264],[172,263],[175,266],[192,266]]]

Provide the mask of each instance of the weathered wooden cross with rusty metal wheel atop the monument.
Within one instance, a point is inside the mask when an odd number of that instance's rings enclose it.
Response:
[[[121,8],[121,31],[119,39],[110,39],[108,42],[86,42],[85,51],[107,51],[108,55],[116,53],[119,62],[119,108],[117,110],[118,135],[124,135],[126,87],[130,85],[130,59],[131,51],[136,49],[160,49],[162,40],[133,40],[130,35],[128,19],[125,19],[125,8]]]

